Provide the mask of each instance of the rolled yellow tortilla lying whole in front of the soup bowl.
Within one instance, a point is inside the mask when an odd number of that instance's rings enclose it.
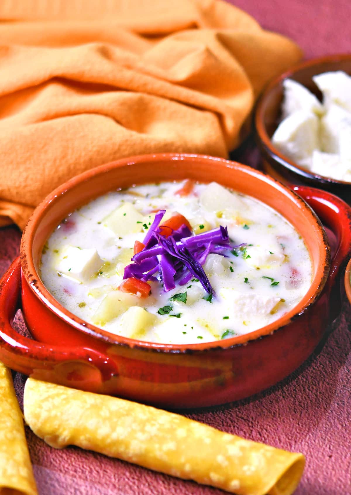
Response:
[[[80,446],[238,495],[290,495],[305,466],[302,454],[178,414],[31,378],[24,417],[52,447]]]

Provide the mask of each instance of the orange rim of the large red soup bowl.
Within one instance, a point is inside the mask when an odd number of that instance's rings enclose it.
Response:
[[[259,177],[263,183],[269,183],[273,185],[279,194],[285,194],[291,198],[292,201],[295,201],[295,204],[299,204],[299,208],[305,210],[305,215],[309,215],[311,220],[315,223],[317,227],[317,232],[320,235],[319,238],[319,252],[321,253],[321,261],[317,267],[316,273],[313,277],[309,290],[307,294],[302,298],[302,300],[294,306],[290,311],[285,313],[279,319],[274,322],[261,327],[253,332],[238,335],[231,337],[229,339],[225,339],[223,341],[211,341],[199,344],[159,344],[148,341],[142,341],[137,339],[130,339],[127,337],[118,336],[107,332],[99,327],[96,327],[85,320],[79,318],[75,314],[68,311],[64,306],[62,306],[46,289],[44,286],[40,275],[35,267],[32,245],[36,232],[37,226],[40,224],[42,217],[45,214],[46,207],[56,198],[61,197],[65,194],[66,191],[70,189],[73,185],[85,182],[94,177],[99,172],[107,172],[112,168],[116,167],[124,167],[124,166],[132,166],[136,163],[144,162],[147,160],[158,160],[158,161],[169,161],[169,160],[186,160],[192,159],[193,161],[203,162],[217,162],[223,164],[223,166],[227,168],[236,168],[244,171],[249,176]],[[111,189],[116,190],[116,188]],[[280,191],[279,191],[280,190]],[[253,196],[254,197],[254,196]],[[255,197],[254,197],[255,198]],[[295,228],[295,227],[294,227]],[[47,239],[47,238],[46,238]],[[90,169],[86,172],[83,172],[80,175],[77,175],[65,182],[54,191],[52,191],[34,210],[31,215],[28,223],[23,230],[22,239],[21,239],[21,268],[22,272],[25,276],[26,281],[29,284],[30,289],[34,292],[34,294],[42,300],[44,305],[48,307],[56,316],[60,319],[69,323],[73,328],[87,334],[90,337],[97,338],[99,340],[103,340],[105,342],[109,342],[114,345],[122,345],[126,347],[137,347],[142,349],[153,349],[155,351],[163,351],[163,352],[195,352],[195,351],[203,351],[203,350],[211,350],[211,349],[226,349],[237,346],[245,346],[251,341],[255,341],[261,339],[265,336],[272,335],[276,330],[288,325],[292,320],[296,319],[299,316],[302,316],[308,308],[313,304],[313,302],[319,297],[321,294],[324,285],[327,281],[329,270],[330,270],[330,247],[327,240],[326,233],[323,229],[323,226],[313,212],[313,210],[308,206],[308,204],[298,196],[294,191],[290,190],[288,187],[284,186],[279,181],[273,179],[272,177],[260,172],[252,167],[247,165],[243,165],[238,162],[233,162],[226,160],[224,158],[212,157],[207,155],[200,154],[187,154],[187,153],[159,153],[159,154],[149,154],[149,155],[140,155],[130,158],[125,158],[121,160],[117,160],[114,162],[106,163]],[[319,274],[319,277],[317,275]],[[311,292],[312,286],[314,287],[313,292]]]

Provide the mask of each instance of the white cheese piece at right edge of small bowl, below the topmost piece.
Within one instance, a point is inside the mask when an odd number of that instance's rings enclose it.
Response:
[[[331,104],[320,122],[321,150],[326,153],[340,153],[340,136],[345,132],[346,137],[343,140],[347,139],[348,129],[350,128],[351,113],[338,105]],[[348,152],[345,150],[345,146],[347,145],[343,141],[343,153]],[[350,143],[348,146],[351,146]]]

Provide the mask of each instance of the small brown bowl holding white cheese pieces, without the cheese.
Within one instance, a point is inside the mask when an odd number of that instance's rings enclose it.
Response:
[[[307,184],[329,191],[351,202],[351,183],[313,174],[284,156],[271,142],[278,126],[283,100],[283,81],[293,79],[303,84],[321,99],[312,76],[322,72],[342,70],[351,74],[351,53],[328,55],[307,60],[274,79],[263,92],[255,111],[255,132],[263,158],[264,171],[284,184]]]

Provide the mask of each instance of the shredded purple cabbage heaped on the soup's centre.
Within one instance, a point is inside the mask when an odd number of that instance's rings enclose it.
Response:
[[[210,253],[225,256],[226,250],[238,246],[230,244],[227,228],[221,225],[196,236],[192,236],[189,228],[182,225],[172,235],[164,237],[160,235],[159,225],[165,211],[160,210],[155,215],[143,241],[144,249],[134,254],[123,278],[159,281],[163,283],[165,292],[174,289],[176,283],[184,285],[196,278],[208,294],[215,295],[202,265]]]

